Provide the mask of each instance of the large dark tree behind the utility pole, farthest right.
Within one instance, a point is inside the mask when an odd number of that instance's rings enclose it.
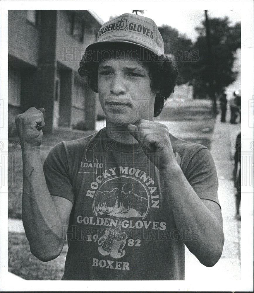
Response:
[[[234,53],[237,48],[241,47],[241,24],[236,23],[234,26],[230,26],[228,17],[224,17],[210,18],[209,25],[213,83],[215,91],[219,95],[237,76],[237,72],[232,71],[232,68],[235,60]],[[194,95],[206,91],[210,81],[205,21],[196,30],[199,36],[194,44],[194,49],[199,51],[199,60],[193,63]]]

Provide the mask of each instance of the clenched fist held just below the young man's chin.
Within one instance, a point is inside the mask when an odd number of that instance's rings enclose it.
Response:
[[[166,125],[141,119],[138,126],[129,124],[127,128],[140,145],[144,146],[145,154],[159,170],[176,163]],[[160,160],[152,160],[151,154],[155,155],[153,157],[159,157]]]

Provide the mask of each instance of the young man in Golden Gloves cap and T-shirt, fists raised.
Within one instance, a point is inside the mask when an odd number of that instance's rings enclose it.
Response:
[[[57,144],[44,163],[43,109],[16,118],[24,141],[23,224],[31,252],[63,280],[184,280],[184,245],[205,266],[222,254],[218,180],[206,147],[155,122],[177,71],[154,21],[105,23],[79,74],[99,93],[106,127]]]

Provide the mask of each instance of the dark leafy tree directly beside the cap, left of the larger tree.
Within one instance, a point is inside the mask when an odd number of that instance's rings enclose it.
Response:
[[[193,52],[193,43],[186,35],[179,33],[176,28],[163,24],[158,28],[164,42],[165,54],[174,56],[179,70],[177,84],[185,84],[193,79],[192,63],[197,61],[198,54]]]

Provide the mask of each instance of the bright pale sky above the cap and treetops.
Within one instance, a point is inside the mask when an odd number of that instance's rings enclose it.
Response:
[[[134,7],[136,8],[136,7]],[[132,9],[115,8],[112,6],[107,8],[105,6],[93,9],[93,11],[104,21],[108,21],[110,16],[119,16],[123,13],[132,13]],[[204,10],[179,10],[179,9],[147,9],[144,11],[143,16],[152,18],[157,26],[162,24],[170,25],[176,28],[180,33],[185,33],[188,38],[195,41],[197,38],[197,33],[195,32],[195,27],[200,25],[200,23],[205,19]],[[236,22],[241,21],[241,11],[238,10],[208,10],[208,17],[229,17],[229,21],[234,25]]]

